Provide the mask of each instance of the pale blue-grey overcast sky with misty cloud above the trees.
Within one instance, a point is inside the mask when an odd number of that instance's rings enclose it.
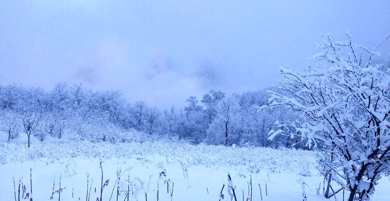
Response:
[[[389,19],[388,0],[0,0],[0,84],[82,82],[182,107],[210,89],[275,84],[278,64],[304,68],[321,33],[374,47]]]

